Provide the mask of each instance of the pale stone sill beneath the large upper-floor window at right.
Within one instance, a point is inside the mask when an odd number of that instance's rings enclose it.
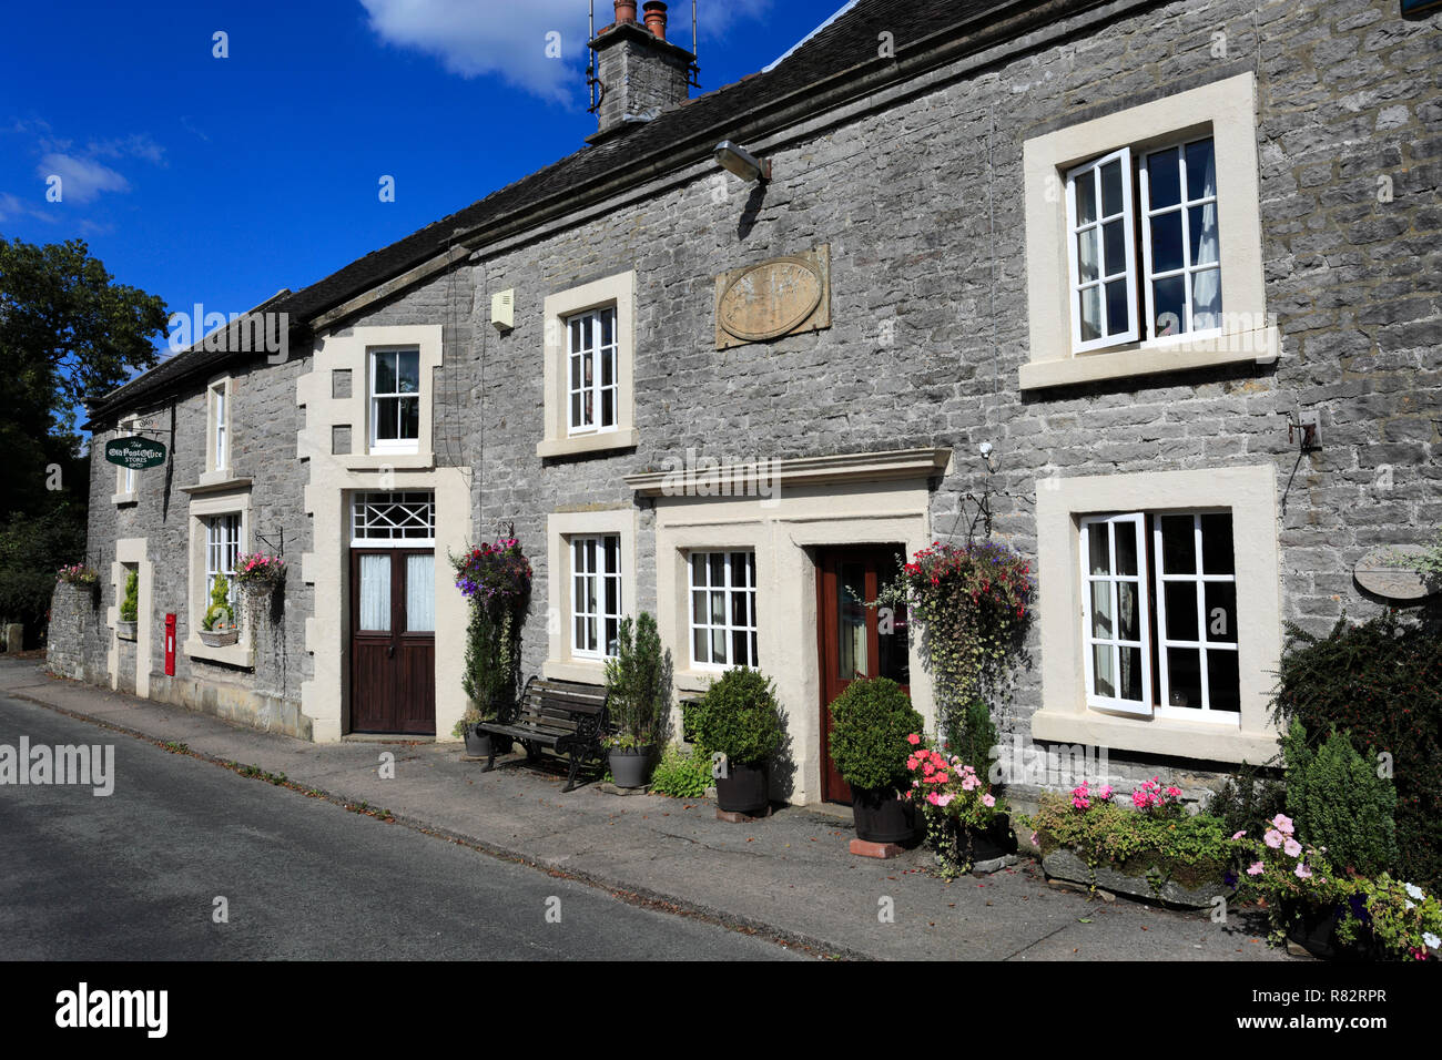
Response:
[[[1253,362],[1270,365],[1280,350],[1278,329],[1268,327],[1259,335],[1221,335],[1197,340],[1152,340],[1119,350],[1079,353],[1070,358],[1032,361],[1018,374],[1021,389],[1070,387],[1133,375],[1185,372],[1194,368]]]

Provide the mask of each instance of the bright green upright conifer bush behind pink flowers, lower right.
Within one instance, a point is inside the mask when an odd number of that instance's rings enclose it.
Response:
[[[1301,841],[1325,849],[1340,868],[1389,871],[1397,861],[1397,792],[1377,776],[1374,760],[1335,730],[1314,750],[1299,720],[1288,730],[1285,754],[1286,812]]]

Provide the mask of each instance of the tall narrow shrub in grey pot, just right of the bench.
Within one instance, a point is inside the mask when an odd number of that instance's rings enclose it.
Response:
[[[616,725],[606,747],[617,787],[645,787],[650,780],[668,684],[656,617],[642,611],[634,624],[622,619],[616,655],[606,661],[607,702]]]

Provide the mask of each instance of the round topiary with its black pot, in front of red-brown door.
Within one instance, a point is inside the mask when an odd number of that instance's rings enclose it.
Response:
[[[857,838],[910,842],[916,803],[901,798],[910,780],[907,744],[921,730],[921,715],[890,678],[852,681],[831,704],[831,757],[851,785]]]

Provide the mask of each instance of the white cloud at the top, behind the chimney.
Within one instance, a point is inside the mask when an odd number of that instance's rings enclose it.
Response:
[[[526,0],[521,4],[476,0],[360,0],[371,29],[389,45],[433,55],[451,74],[493,74],[555,102],[585,98],[585,16],[583,0]],[[737,22],[756,19],[771,0],[707,0],[701,36],[720,39]],[[640,7],[640,3],[637,3]],[[676,0],[668,36],[691,46],[691,4]],[[597,29],[614,17],[611,0],[596,0]],[[639,12],[637,12],[639,17]],[[547,56],[547,33],[561,35],[561,58]]]

